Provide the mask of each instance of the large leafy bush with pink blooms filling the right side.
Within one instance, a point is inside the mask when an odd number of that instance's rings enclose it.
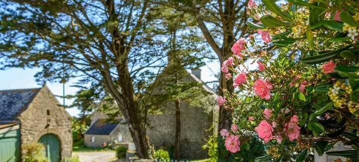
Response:
[[[326,154],[357,161],[359,4],[250,0],[247,11],[258,38],[238,39],[221,67],[235,88],[217,99],[233,110],[234,125],[221,131],[227,150],[250,150],[258,136],[268,149],[257,161],[304,161],[342,142],[353,149]]]

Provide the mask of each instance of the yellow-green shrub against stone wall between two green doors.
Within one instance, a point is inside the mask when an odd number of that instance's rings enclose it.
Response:
[[[43,154],[45,147],[40,143],[28,143],[22,146],[22,162],[47,162]]]

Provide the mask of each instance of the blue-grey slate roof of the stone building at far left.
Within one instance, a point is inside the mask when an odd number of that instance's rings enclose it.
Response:
[[[27,108],[41,88],[0,90],[0,121],[11,120]]]

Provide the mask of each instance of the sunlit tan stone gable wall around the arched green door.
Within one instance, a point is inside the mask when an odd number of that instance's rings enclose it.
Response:
[[[52,133],[60,141],[61,157],[71,156],[71,116],[59,104],[46,86],[38,92],[27,109],[18,117],[22,145],[38,142],[41,136]]]

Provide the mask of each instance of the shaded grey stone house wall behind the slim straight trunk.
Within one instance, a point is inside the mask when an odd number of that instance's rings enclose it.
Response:
[[[164,114],[150,115],[150,127],[147,135],[155,148],[169,150],[175,145],[176,115],[174,103],[168,103]],[[212,113],[205,112],[203,108],[192,107],[180,103],[181,133],[180,156],[181,159],[206,158],[207,151],[202,149],[206,139],[212,131],[207,131],[212,123]]]

